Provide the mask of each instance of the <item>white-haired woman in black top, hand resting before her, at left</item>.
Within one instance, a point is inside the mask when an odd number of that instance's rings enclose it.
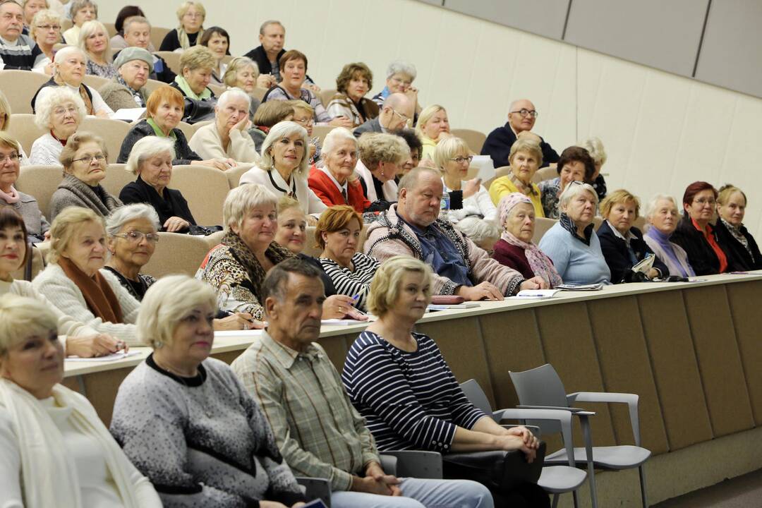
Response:
[[[158,214],[161,230],[187,232],[196,220],[179,190],[169,189],[172,177],[174,143],[168,138],[148,136],[135,143],[126,170],[137,175],[119,193],[125,204],[146,203]]]

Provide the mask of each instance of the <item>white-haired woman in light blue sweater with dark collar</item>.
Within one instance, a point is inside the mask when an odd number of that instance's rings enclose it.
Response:
[[[593,231],[597,204],[598,195],[590,184],[567,185],[559,201],[559,222],[539,241],[539,249],[566,284],[610,284],[611,271]]]

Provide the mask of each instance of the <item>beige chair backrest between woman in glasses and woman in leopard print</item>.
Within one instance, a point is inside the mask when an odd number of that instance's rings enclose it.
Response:
[[[156,250],[151,260],[142,267],[142,272],[157,279],[172,273],[194,276],[209,252],[203,237],[165,232],[160,232],[158,236]]]

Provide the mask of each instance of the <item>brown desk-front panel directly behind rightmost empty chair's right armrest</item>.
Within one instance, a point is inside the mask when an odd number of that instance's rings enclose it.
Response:
[[[639,417],[642,446],[654,454],[668,451],[664,417],[648,360],[635,296],[588,302],[604,391],[640,396]],[[626,404],[609,404],[616,443],[634,444]]]

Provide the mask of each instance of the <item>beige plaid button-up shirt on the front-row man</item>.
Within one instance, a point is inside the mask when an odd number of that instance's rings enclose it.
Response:
[[[232,363],[273,428],[278,448],[296,476],[328,478],[349,490],[352,475],[379,462],[365,420],[341,377],[317,343],[298,353],[265,331]]]

